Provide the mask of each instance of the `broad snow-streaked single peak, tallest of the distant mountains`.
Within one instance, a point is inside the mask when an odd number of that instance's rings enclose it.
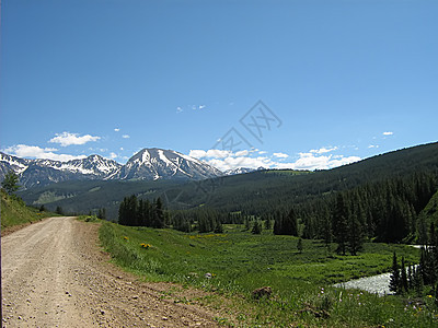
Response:
[[[191,156],[151,148],[130,157],[112,179],[205,179],[221,175],[219,169]]]

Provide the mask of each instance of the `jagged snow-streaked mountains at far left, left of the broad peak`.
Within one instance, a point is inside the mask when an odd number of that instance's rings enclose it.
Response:
[[[0,152],[0,179],[12,169],[20,175],[20,184],[24,188],[65,180],[104,179],[114,175],[120,166],[122,164],[100,155],[59,162],[26,160]]]

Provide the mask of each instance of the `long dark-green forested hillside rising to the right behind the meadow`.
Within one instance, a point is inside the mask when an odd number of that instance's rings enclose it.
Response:
[[[299,233],[327,242],[338,241],[343,233],[413,242],[427,237],[434,203],[424,209],[437,191],[437,177],[438,143],[430,143],[330,171],[257,171],[183,184],[77,181],[35,188],[22,196],[28,203],[60,206],[68,212],[105,208],[112,220],[127,196],[150,202],[160,197],[174,211],[168,224],[181,230],[194,227],[195,222],[203,223],[200,230],[212,231],[220,230],[219,223],[262,220],[276,222],[278,234]]]

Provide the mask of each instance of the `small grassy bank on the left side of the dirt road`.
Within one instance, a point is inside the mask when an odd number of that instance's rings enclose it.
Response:
[[[26,207],[26,204],[15,197],[8,196],[1,191],[1,229],[10,229],[15,225],[39,221],[54,213],[39,212],[37,209]]]

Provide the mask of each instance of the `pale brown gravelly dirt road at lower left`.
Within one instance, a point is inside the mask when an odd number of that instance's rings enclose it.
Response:
[[[2,238],[2,327],[216,327],[108,263],[96,224],[50,218]],[[169,285],[168,285],[169,286]]]

